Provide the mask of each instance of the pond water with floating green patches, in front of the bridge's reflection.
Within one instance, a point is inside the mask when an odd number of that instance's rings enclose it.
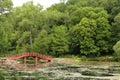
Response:
[[[120,80],[120,63],[53,63],[33,70],[0,66],[0,80]]]

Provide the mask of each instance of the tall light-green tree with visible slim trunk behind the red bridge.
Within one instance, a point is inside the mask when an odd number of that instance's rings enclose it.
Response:
[[[42,6],[39,4],[35,6],[32,1],[25,3],[22,7],[17,7],[14,10],[14,14],[16,15],[15,19],[17,21],[15,28],[21,34],[17,41],[17,48],[24,47],[22,44],[27,44],[28,49],[33,49],[33,38],[35,37],[35,34],[37,34],[37,29],[41,29],[39,24],[41,10]],[[21,39],[24,40],[23,42],[25,43],[21,42]]]

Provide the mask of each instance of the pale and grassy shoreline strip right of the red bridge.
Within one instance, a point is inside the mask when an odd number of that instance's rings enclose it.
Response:
[[[120,62],[113,62],[113,61],[85,61],[79,59],[72,59],[72,58],[53,58],[52,63],[58,64],[75,64],[75,65],[120,65]]]

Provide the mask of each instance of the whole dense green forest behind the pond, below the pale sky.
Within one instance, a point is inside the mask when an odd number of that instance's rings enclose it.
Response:
[[[61,0],[47,9],[0,0],[0,55],[23,52],[120,58],[120,0]]]

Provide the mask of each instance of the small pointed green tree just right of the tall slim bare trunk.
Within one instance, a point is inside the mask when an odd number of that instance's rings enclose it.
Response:
[[[50,39],[48,33],[43,29],[40,31],[34,42],[34,51],[42,54],[48,54]]]

